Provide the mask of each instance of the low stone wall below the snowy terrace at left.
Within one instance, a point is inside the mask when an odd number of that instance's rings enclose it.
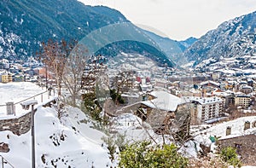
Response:
[[[55,100],[46,102],[44,107],[49,107],[51,103],[54,103]],[[37,111],[37,109],[35,109]],[[22,116],[15,117],[13,119],[2,119],[0,120],[0,131],[10,130],[15,135],[20,136],[21,134],[25,134],[31,128],[31,111],[28,111]]]

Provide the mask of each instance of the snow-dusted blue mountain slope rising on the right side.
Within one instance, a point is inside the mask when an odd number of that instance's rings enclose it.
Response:
[[[194,65],[207,59],[254,55],[256,53],[256,12],[236,17],[207,32],[183,55]]]

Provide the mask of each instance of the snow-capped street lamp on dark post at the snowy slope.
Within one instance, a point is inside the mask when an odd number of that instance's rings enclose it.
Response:
[[[34,105],[38,104],[38,101],[31,100],[31,101],[23,101],[20,103],[23,109],[28,110],[30,106],[31,109],[31,136],[32,136],[32,168],[36,167],[36,160],[35,160],[35,128],[34,128]]]

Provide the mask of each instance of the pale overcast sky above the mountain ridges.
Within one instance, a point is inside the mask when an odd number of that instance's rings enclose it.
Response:
[[[137,26],[175,40],[200,38],[225,20],[256,10],[256,0],[79,0],[118,9]]]

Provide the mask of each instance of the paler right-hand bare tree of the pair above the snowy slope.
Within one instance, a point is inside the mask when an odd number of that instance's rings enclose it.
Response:
[[[79,98],[81,90],[81,78],[86,65],[86,53],[88,49],[83,44],[77,44],[67,58],[62,75],[63,84],[71,96],[71,105],[76,106],[76,99]]]

